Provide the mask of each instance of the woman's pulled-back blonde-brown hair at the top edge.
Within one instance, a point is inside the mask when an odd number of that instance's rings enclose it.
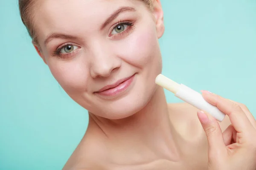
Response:
[[[29,36],[32,38],[33,42],[37,43],[36,33],[35,33],[35,26],[33,24],[33,8],[35,7],[37,0],[19,0],[19,9],[20,9],[20,17],[23,24],[26,26]],[[145,5],[151,9],[152,8],[152,0],[140,0]]]

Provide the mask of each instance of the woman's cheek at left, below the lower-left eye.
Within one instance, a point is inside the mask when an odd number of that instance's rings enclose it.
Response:
[[[87,91],[89,72],[86,63],[79,59],[81,57],[69,61],[53,58],[48,64],[53,77],[67,92]]]

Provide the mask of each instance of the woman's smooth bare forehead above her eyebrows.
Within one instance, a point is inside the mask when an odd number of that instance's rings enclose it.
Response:
[[[38,37],[60,29],[93,26],[104,22],[120,7],[144,6],[140,0],[41,0],[35,9]]]

